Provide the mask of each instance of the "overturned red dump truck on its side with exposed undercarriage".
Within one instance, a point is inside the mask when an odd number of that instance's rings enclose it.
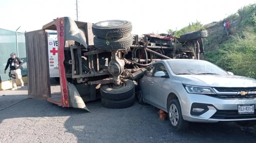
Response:
[[[47,32],[58,35],[61,93],[51,95]],[[28,96],[62,107],[90,111],[85,102],[101,99],[106,108],[126,108],[135,101],[135,84],[145,67],[161,59],[205,60],[207,31],[174,37],[132,35],[132,23],[108,20],[95,24],[57,18],[41,30],[25,33]]]

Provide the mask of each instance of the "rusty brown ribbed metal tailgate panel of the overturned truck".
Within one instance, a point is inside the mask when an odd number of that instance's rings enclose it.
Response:
[[[48,62],[48,38],[45,30],[25,33],[28,97],[47,99],[51,96]]]

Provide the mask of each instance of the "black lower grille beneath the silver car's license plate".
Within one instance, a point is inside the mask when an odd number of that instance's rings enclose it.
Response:
[[[237,110],[218,110],[210,119],[252,119],[256,118],[256,112],[253,114],[239,115]]]

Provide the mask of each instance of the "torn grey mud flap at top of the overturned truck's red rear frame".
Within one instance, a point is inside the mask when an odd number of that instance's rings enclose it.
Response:
[[[77,27],[77,24],[75,21],[73,21],[69,17],[64,17],[64,26],[65,26],[65,41],[68,40],[74,40],[79,43],[81,43],[86,49],[87,49],[87,44],[86,44],[86,38],[82,36],[80,33],[79,28]],[[60,27],[61,28],[61,27]],[[85,33],[83,33],[84,35]]]

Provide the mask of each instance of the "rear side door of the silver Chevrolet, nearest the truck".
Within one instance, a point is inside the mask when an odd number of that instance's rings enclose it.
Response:
[[[138,83],[141,88],[144,101],[146,102],[150,102],[150,82],[151,82],[151,78],[153,76],[156,65],[157,64],[153,64],[149,66],[146,70],[145,75],[143,76],[142,79],[140,79]]]

